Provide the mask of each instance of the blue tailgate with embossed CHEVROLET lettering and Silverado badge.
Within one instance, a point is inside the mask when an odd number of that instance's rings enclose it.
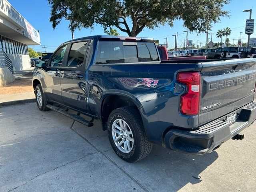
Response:
[[[202,63],[199,126],[254,99],[256,59]]]

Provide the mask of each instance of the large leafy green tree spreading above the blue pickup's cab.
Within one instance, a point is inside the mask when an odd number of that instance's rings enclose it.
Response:
[[[48,0],[52,10],[50,22],[55,29],[62,19],[72,18],[72,28],[93,28],[100,24],[106,31],[115,26],[129,36],[144,28],[173,26],[182,19],[190,31],[206,32],[221,16],[230,0]],[[131,26],[130,23],[131,22]],[[69,26],[71,27],[71,26]]]

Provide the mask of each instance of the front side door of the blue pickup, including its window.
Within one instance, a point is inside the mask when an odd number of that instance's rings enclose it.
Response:
[[[61,102],[60,68],[65,65],[67,45],[60,47],[48,61],[44,73],[45,94],[49,100]]]

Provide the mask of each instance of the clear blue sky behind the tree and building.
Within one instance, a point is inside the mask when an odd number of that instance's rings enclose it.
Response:
[[[34,28],[39,30],[41,37],[41,46],[30,46],[36,51],[44,52],[45,49],[43,46],[46,46],[46,52],[53,52],[60,44],[72,39],[71,32],[68,29],[69,21],[62,20],[62,22],[56,27],[55,30],[52,28],[52,23],[50,20],[51,8],[47,0],[8,0]],[[216,38],[216,32],[220,29],[229,27],[232,32],[228,36],[230,43],[237,43],[240,32],[242,42],[247,42],[247,35],[245,31],[245,21],[249,19],[249,12],[242,12],[246,9],[252,9],[252,19],[256,19],[256,0],[231,0],[230,4],[224,6],[224,10],[230,12],[230,17],[221,17],[220,22],[214,24],[211,32],[212,41],[220,42],[219,38]],[[256,21],[254,22],[256,23]],[[174,48],[174,36],[178,32],[178,47],[181,44],[181,41],[184,44],[184,38],[186,34],[183,32],[186,28],[183,26],[182,20],[176,20],[174,26],[170,27],[167,24],[165,26],[160,26],[154,30],[144,28],[138,36],[140,37],[150,37],[155,40],[159,40],[160,44],[164,44],[168,38],[168,48]],[[118,30],[121,36],[127,36],[126,33]],[[183,34],[182,34],[183,33]],[[76,30],[74,32],[75,38],[80,38],[84,36],[91,35],[103,35],[104,29],[100,25],[94,25],[93,29],[83,28],[82,30]],[[254,29],[254,34],[250,36],[251,38],[256,38],[256,29]],[[208,36],[211,38],[211,35]],[[204,45],[206,44],[206,34],[197,32],[188,32],[188,40],[193,40],[195,45]]]

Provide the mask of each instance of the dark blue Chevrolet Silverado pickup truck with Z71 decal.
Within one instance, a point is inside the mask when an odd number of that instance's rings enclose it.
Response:
[[[153,144],[199,155],[242,140],[256,119],[255,86],[256,59],[161,61],[153,39],[118,36],[65,42],[33,77],[39,110],[100,120],[127,162]]]

